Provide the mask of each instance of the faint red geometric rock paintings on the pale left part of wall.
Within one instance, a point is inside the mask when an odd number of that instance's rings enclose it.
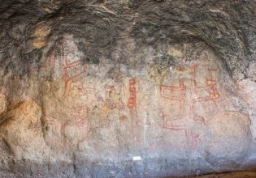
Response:
[[[89,92],[93,91],[92,87],[81,82],[80,77],[86,72],[87,66],[80,60],[82,54],[69,38],[71,37],[63,38],[56,44],[46,57],[44,65],[31,68],[31,72],[37,72],[41,77],[51,76],[63,83],[59,100],[63,103],[62,109],[67,121],[54,118],[47,109],[43,121],[45,136],[50,139],[50,145],[54,146],[64,146],[64,137],[77,142],[85,139],[89,109],[85,100],[88,100]]]

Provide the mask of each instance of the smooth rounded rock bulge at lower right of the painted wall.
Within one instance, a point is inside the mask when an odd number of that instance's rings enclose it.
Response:
[[[210,128],[210,144],[206,148],[208,162],[213,165],[215,163],[230,165],[231,168],[239,166],[245,160],[251,145],[249,117],[240,112],[224,112],[217,115],[208,125]]]

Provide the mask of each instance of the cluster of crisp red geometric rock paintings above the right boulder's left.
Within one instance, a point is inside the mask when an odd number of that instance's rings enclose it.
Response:
[[[204,54],[207,57],[207,54]],[[195,63],[176,67],[170,83],[160,85],[158,116],[163,129],[180,131],[190,147],[201,141],[194,126],[204,126],[217,112],[220,94],[215,66]]]

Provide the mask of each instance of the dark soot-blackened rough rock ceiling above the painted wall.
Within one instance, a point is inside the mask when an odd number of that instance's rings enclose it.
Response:
[[[256,57],[255,0],[1,0],[1,67],[28,74],[64,35],[83,61],[111,60],[117,41],[141,46],[201,41],[223,60],[233,79],[250,78]],[[127,56],[128,57],[128,56]],[[143,59],[141,59],[143,60]],[[124,62],[125,56],[123,57]]]

